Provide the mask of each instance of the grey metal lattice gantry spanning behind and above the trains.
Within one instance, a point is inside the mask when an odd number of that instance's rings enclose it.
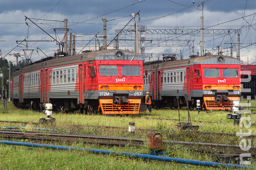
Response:
[[[128,50],[134,51],[135,29],[115,30],[115,32],[116,34],[107,35],[107,44],[108,42],[111,42],[113,38],[115,38],[115,41],[112,41],[108,48],[126,48]],[[116,36],[117,34],[118,36]],[[194,55],[195,47],[200,47],[200,28],[186,29],[184,27],[177,27],[173,29],[147,29],[145,28],[145,26],[140,26],[138,29],[138,34],[140,49],[139,52],[143,56],[143,59],[146,61],[159,59],[159,56],[161,54],[146,53],[145,49],[147,48],[162,47],[163,50],[176,48],[176,50],[173,51],[177,51],[177,48],[183,48],[176,53],[179,53],[180,56],[183,56],[183,51],[187,51],[188,55],[186,55],[186,57],[188,57],[189,55]],[[239,38],[240,34],[240,29],[204,29],[204,40],[211,41],[216,39],[213,38],[213,36],[225,37],[227,35],[232,35],[232,37],[234,37],[234,35],[237,35],[237,37]],[[86,45],[87,42],[91,41],[94,36],[95,34],[76,34],[76,49],[84,47],[84,45]],[[87,49],[96,50],[101,48],[103,46],[103,37],[105,37],[103,34],[98,34],[97,38],[95,38],[94,41],[91,41],[90,44],[87,45]],[[236,42],[236,40],[231,40],[230,47],[232,45],[236,45],[234,49],[236,49],[237,54],[239,54],[239,43]],[[212,50],[213,48],[214,47],[211,47],[210,50]],[[214,49],[218,50],[217,45]],[[170,53],[173,52],[170,51]],[[230,52],[230,54],[232,54],[232,52]]]

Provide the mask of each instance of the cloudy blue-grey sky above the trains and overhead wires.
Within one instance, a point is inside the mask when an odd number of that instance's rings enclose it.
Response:
[[[137,13],[135,21],[131,13]],[[240,57],[243,62],[256,61],[256,1],[255,0],[0,0],[0,49],[1,56],[12,62],[16,59],[10,54],[24,55],[26,49],[32,52],[31,59],[36,61],[47,54],[52,56],[58,45],[44,31],[61,41],[64,32],[54,32],[54,28],[64,28],[64,19],[68,20],[69,33],[77,36],[76,51],[87,44],[99,32],[103,34],[102,17],[107,19],[108,42],[111,42],[116,30],[134,29],[134,23],[145,26],[148,30],[177,29],[200,30],[200,17],[204,15],[204,28],[232,29],[240,31]],[[35,26],[26,17],[31,18]],[[90,35],[90,36],[89,36]],[[82,37],[81,37],[82,36]],[[123,37],[122,37],[123,36]],[[122,35],[119,39],[128,39]],[[102,45],[98,36],[97,43]],[[134,38],[134,35],[129,39]],[[27,42],[21,42],[26,39]],[[187,58],[200,51],[200,34],[186,35],[145,35],[145,53],[180,54]],[[216,46],[221,45],[225,55],[237,55],[237,34],[204,34],[204,48],[216,54]],[[82,40],[82,41],[81,41]],[[148,41],[150,40],[150,41]],[[20,43],[21,42],[21,43]],[[179,42],[179,43],[178,43]],[[185,43],[186,42],[186,43]],[[17,43],[20,43],[19,45]],[[86,48],[95,50],[92,41]],[[134,50],[134,42],[122,42],[120,48]],[[189,45],[188,45],[189,44]],[[108,48],[113,48],[114,43]],[[40,48],[43,52],[38,50]],[[26,55],[29,55],[29,50]],[[23,57],[23,56],[22,56]],[[23,59],[23,58],[19,58]]]

